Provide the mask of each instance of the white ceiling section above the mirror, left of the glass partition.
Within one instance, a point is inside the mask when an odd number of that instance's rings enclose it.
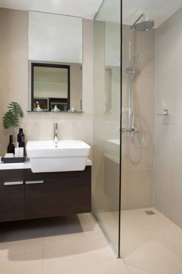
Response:
[[[0,0],[0,7],[93,19],[101,3],[102,0]]]

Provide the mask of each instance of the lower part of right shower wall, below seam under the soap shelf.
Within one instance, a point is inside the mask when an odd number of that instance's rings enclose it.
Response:
[[[154,207],[182,227],[181,122],[156,123]]]

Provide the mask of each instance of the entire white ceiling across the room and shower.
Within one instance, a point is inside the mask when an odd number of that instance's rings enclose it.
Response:
[[[102,0],[0,0],[0,7],[34,10],[93,19]],[[182,0],[123,0],[122,23],[131,25],[145,13],[156,28],[182,6]],[[120,22],[120,0],[104,0],[96,17]]]

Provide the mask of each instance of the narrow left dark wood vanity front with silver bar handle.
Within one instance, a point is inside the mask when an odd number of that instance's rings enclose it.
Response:
[[[25,219],[23,181],[0,182],[0,222]]]

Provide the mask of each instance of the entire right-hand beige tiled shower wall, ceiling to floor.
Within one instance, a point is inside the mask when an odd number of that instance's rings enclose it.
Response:
[[[182,228],[181,215],[181,24],[182,8],[156,29],[156,116],[154,206]]]

